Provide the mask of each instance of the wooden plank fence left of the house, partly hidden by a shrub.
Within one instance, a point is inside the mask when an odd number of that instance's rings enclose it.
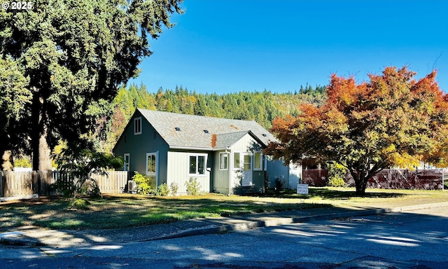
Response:
[[[102,193],[123,193],[127,188],[127,171],[108,171],[106,175],[94,174]],[[0,197],[26,197],[58,195],[52,184],[57,179],[69,181],[66,174],[59,171],[0,171]]]

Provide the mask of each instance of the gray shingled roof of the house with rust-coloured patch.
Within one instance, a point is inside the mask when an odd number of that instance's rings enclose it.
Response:
[[[138,111],[153,125],[170,148],[225,149],[247,133],[265,145],[276,140],[253,120],[231,120],[146,109]],[[176,127],[179,127],[179,130],[176,130]]]

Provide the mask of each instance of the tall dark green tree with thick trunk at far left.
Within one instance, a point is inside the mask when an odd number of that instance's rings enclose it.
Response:
[[[47,170],[60,139],[82,145],[98,125],[104,137],[118,86],[137,76],[151,55],[148,38],[173,26],[169,18],[182,13],[181,1],[50,0],[26,11],[1,8],[0,150],[27,151],[34,170]]]

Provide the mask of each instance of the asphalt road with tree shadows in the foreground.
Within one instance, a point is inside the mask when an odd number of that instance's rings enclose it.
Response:
[[[172,240],[0,246],[0,268],[448,268],[448,208]]]

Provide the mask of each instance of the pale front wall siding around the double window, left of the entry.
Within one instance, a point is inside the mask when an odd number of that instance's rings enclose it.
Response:
[[[214,156],[213,154],[209,154],[207,152],[197,152],[197,151],[168,151],[167,153],[167,185],[170,186],[172,182],[175,182],[179,185],[179,189],[177,191],[180,195],[187,194],[186,181],[190,179],[189,171],[189,156],[196,154],[207,154],[207,163],[206,163],[206,171],[205,175],[196,175],[193,178],[197,179],[197,182],[200,183],[201,188],[200,191],[209,193],[211,192],[211,172],[213,170]]]

